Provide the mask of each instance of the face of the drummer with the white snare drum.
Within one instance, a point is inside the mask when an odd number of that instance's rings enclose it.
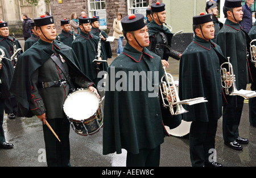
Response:
[[[47,24],[46,26],[41,26],[41,30],[40,28],[37,28],[36,30],[36,32],[40,36],[40,39],[49,43],[52,43],[52,41],[56,39],[55,24]]]

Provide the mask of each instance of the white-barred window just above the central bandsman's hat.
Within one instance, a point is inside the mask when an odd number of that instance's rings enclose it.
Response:
[[[128,0],[128,15],[143,14],[146,16],[146,9],[149,6],[149,0]]]

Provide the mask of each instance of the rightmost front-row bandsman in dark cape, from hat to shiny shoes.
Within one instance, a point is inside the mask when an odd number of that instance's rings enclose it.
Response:
[[[220,45],[224,56],[230,57],[236,75],[237,89],[246,89],[246,84],[254,80],[256,71],[253,63],[247,58],[251,39],[239,24],[243,16],[242,0],[225,0],[223,11],[227,19],[218,33],[217,44]],[[238,131],[243,97],[226,97],[228,104],[223,107],[222,117],[224,143],[234,150],[242,150],[241,144],[249,143],[248,139],[240,137]]]

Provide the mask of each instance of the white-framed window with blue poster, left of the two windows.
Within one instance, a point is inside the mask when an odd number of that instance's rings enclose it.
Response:
[[[89,16],[97,16],[100,22],[100,28],[106,29],[106,6],[105,0],[88,1]]]

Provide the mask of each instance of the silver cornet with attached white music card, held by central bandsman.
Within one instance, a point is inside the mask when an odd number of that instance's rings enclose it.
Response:
[[[166,72],[166,67],[163,67],[163,69],[164,69],[164,75],[161,78],[159,88],[160,88],[160,93],[163,101],[163,106],[169,107],[172,115],[183,114],[188,112],[187,110],[184,109],[182,104],[194,105],[194,104],[199,104],[201,102],[208,102],[207,100],[205,100],[204,97],[198,97],[198,98],[180,101],[180,98],[175,86],[174,78],[170,73]],[[174,86],[174,88],[171,88],[171,85]],[[168,100],[167,96],[171,96],[171,101]],[[166,103],[166,101],[168,103]],[[174,107],[176,107],[176,111],[174,111]]]

